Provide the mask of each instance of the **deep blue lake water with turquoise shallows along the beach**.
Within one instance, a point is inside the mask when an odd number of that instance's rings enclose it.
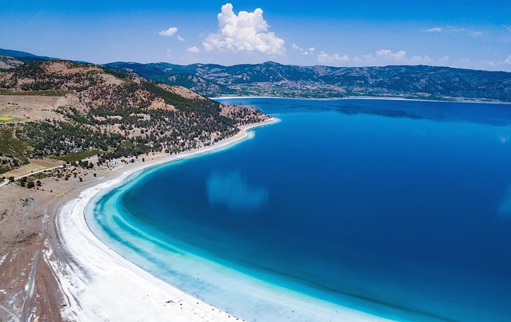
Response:
[[[132,177],[94,233],[243,319],[510,320],[510,105],[223,103],[281,122]]]

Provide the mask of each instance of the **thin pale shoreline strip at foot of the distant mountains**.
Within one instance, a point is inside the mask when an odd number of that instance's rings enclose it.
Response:
[[[435,103],[477,103],[477,104],[494,104],[494,105],[511,105],[511,102],[503,102],[503,101],[480,101],[480,100],[433,100],[433,99],[423,99],[423,98],[403,98],[399,96],[344,96],[344,97],[332,97],[332,98],[301,98],[301,97],[282,97],[282,96],[216,96],[209,97],[212,100],[219,99],[244,99],[244,98],[277,98],[277,99],[295,99],[295,100],[304,100],[304,101],[342,101],[342,100],[351,100],[351,99],[360,99],[360,100],[382,100],[382,101],[417,101],[417,102],[435,102]]]

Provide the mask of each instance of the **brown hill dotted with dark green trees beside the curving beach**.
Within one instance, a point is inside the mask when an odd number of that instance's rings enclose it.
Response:
[[[30,158],[99,154],[102,163],[173,154],[267,119],[259,110],[223,105],[118,68],[9,59],[13,66],[0,69],[0,173]]]

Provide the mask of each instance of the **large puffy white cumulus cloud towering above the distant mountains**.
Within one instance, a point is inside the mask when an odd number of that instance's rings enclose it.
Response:
[[[269,24],[262,17],[262,10],[253,13],[232,11],[232,4],[225,3],[218,14],[217,34],[209,34],[202,45],[210,50],[228,50],[230,52],[262,52],[265,54],[283,54],[286,52],[283,39],[269,32]]]

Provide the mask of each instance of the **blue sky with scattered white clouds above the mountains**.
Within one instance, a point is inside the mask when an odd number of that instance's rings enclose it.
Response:
[[[511,1],[2,0],[0,47],[96,64],[511,71]]]

